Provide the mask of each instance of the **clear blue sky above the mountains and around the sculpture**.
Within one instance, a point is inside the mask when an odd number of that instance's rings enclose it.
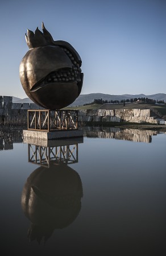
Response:
[[[166,1],[24,1],[0,3],[0,95],[25,98],[19,64],[27,28],[72,44],[82,59],[81,94],[166,93]]]

